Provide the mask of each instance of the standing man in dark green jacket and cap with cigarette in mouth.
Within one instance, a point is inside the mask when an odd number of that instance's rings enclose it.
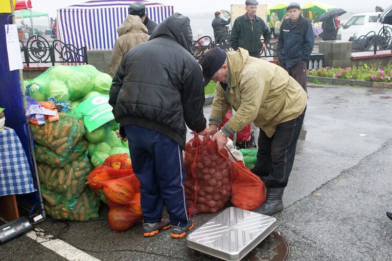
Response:
[[[271,33],[264,20],[256,16],[258,4],[256,0],[246,0],[246,13],[234,21],[230,43],[234,50],[241,47],[248,50],[250,56],[260,58],[260,52],[269,43]],[[262,35],[263,43],[261,42]]]

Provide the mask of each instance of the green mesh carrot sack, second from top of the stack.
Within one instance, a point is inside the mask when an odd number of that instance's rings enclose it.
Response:
[[[62,157],[57,155],[51,149],[41,146],[39,144],[34,144],[35,157],[38,162],[47,163],[52,167],[64,167],[71,161],[79,158],[87,149],[87,141],[79,141],[74,148],[70,151],[69,155]]]

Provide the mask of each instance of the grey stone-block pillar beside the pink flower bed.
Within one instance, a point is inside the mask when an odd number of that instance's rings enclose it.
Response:
[[[351,50],[353,43],[350,41],[319,41],[318,52],[324,54],[323,66],[349,67],[351,66]]]

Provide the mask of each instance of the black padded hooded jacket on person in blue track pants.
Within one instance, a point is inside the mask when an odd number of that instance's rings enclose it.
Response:
[[[191,47],[190,20],[175,13],[155,28],[148,42],[125,55],[109,92],[120,127],[154,130],[182,148],[186,124],[196,132],[204,130],[203,74]]]

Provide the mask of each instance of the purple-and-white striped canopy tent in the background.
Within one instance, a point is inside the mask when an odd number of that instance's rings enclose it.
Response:
[[[58,36],[66,44],[87,50],[112,50],[117,28],[134,2],[146,5],[147,16],[156,23],[174,13],[173,6],[143,0],[96,0],[57,10]]]

